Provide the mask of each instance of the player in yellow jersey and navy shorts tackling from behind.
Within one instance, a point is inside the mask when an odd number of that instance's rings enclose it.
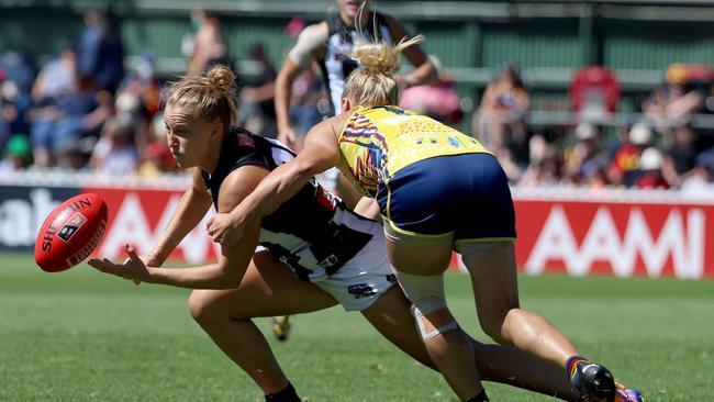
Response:
[[[488,398],[475,350],[446,304],[443,273],[454,250],[470,273],[479,323],[489,336],[562,367],[583,401],[642,402],[605,367],[581,357],[546,319],[520,308],[515,213],[497,159],[456,130],[394,107],[400,52],[421,40],[355,46],[352,57],[361,67],[345,85],[345,112],[314,126],[302,153],[272,170],[231,213],[216,215],[209,233],[224,246],[233,244],[312,175],[337,166],[377,200],[388,257],[416,327],[462,401]]]

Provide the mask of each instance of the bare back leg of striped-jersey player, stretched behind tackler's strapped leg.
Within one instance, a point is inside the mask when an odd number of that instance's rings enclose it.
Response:
[[[362,312],[365,317],[389,342],[423,365],[436,365],[416,332],[411,303],[399,287],[393,287]],[[476,364],[483,380],[540,392],[566,401],[577,401],[580,393],[572,389],[565,370],[512,346],[484,345],[470,339],[476,350]]]

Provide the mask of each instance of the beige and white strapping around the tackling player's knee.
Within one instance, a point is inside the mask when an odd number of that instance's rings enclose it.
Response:
[[[421,276],[397,271],[404,294],[412,302],[412,314],[424,342],[458,328],[456,320],[446,306],[444,276]]]

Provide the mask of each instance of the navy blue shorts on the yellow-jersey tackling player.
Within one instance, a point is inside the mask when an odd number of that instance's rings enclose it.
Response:
[[[509,181],[490,154],[420,160],[380,183],[377,202],[391,230],[406,236],[515,241]]]

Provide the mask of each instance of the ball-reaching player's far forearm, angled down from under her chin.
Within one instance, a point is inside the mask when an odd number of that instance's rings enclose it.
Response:
[[[213,199],[205,188],[200,168],[193,169],[193,180],[160,238],[147,256],[142,256],[144,263],[150,267],[160,267],[171,252],[178,246],[186,235],[198,226],[205,213],[211,208]]]

